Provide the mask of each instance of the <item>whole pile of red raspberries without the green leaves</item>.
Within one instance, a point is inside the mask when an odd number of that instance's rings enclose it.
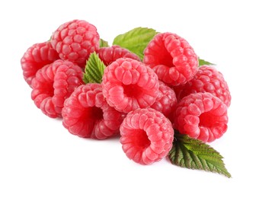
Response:
[[[100,47],[94,25],[73,20],[21,58],[34,104],[61,118],[73,135],[120,136],[123,152],[139,164],[160,161],[171,150],[174,129],[203,142],[227,130],[229,87],[213,66],[199,67],[187,40],[156,34],[144,58],[120,46]],[[83,81],[91,53],[106,65],[101,84]]]

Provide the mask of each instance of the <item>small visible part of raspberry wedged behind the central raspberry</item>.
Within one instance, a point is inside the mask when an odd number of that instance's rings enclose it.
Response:
[[[158,97],[156,97],[155,103],[151,107],[163,113],[165,117],[168,117],[175,110],[176,104],[175,92],[165,83],[159,81]]]

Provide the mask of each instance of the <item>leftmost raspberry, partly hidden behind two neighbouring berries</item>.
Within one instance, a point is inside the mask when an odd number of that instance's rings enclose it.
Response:
[[[49,41],[30,46],[21,58],[21,68],[27,84],[31,86],[31,81],[38,69],[54,62],[56,59],[59,59],[59,55]]]

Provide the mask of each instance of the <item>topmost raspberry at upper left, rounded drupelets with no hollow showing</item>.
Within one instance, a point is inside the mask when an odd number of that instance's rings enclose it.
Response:
[[[62,24],[51,38],[59,57],[85,67],[85,62],[99,48],[100,37],[96,27],[87,21],[73,20]]]

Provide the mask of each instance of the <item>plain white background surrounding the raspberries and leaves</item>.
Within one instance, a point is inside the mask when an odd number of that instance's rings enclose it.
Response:
[[[1,1],[0,197],[255,197],[254,1]],[[217,64],[232,93],[229,129],[211,143],[227,178],[179,168],[167,159],[142,166],[119,139],[72,136],[30,99],[20,59],[60,24],[83,19],[104,40],[134,27],[184,37]]]

